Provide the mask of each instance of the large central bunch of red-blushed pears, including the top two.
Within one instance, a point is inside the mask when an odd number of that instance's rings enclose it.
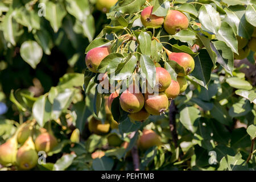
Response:
[[[188,27],[188,18],[180,11],[169,10],[167,16],[164,18],[153,15],[152,9],[153,6],[148,6],[141,12],[143,26],[157,28],[161,27],[163,24],[164,29],[170,35],[174,35],[176,32]],[[153,39],[159,42],[158,39],[154,37]],[[172,79],[170,73],[165,68],[162,68],[159,63],[155,63],[156,86],[158,86],[158,89],[154,89],[154,93],[141,93],[139,86],[133,83],[122,92],[120,96],[119,90],[116,90],[111,93],[108,98],[108,107],[110,111],[114,98],[119,97],[121,108],[129,113],[131,120],[144,121],[150,114],[160,115],[165,113],[170,105],[170,101],[187,89],[187,80],[185,76],[191,73],[195,68],[193,57],[188,53],[171,52],[164,47],[163,49],[166,51],[169,60],[175,61],[183,68],[177,74],[177,81]],[[110,52],[110,46],[90,49],[85,57],[85,64],[89,71],[98,73],[98,67],[101,64],[101,61],[108,56]],[[100,75],[100,84],[107,81],[107,85],[109,85],[107,73],[100,73]],[[139,91],[136,92],[136,90]]]

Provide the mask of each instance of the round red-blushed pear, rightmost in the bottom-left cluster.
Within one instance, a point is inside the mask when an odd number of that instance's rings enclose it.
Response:
[[[57,145],[57,139],[53,134],[46,132],[36,137],[35,148],[36,151],[51,151]]]

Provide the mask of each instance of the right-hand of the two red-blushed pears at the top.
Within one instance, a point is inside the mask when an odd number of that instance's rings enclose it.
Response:
[[[164,19],[164,30],[170,35],[188,28],[188,18],[183,13],[177,10],[169,10]]]

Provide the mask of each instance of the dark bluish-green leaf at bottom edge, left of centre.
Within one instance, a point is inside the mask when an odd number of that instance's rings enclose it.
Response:
[[[92,167],[95,171],[110,171],[114,166],[112,158],[103,156],[102,158],[93,159]]]

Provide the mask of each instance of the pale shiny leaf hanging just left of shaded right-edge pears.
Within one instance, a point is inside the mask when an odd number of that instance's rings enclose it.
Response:
[[[237,38],[234,34],[233,28],[226,22],[221,23],[221,27],[216,34],[216,38],[226,43],[233,52],[238,53]]]

